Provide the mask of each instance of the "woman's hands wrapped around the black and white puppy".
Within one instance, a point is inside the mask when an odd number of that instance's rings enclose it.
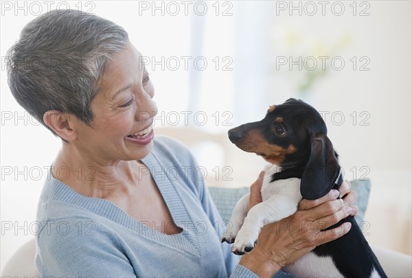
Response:
[[[262,201],[260,188],[263,174],[251,187],[251,204]],[[343,199],[337,199],[344,196]],[[260,197],[260,198],[259,198]],[[336,240],[345,235],[350,222],[328,231],[321,231],[336,224],[349,215],[356,215],[358,209],[352,206],[356,193],[350,191],[350,183],[344,181],[337,190],[332,189],[317,200],[301,200],[298,211],[279,222],[262,228],[258,243],[250,253],[243,255],[240,264],[260,277],[271,277],[282,267],[295,262],[316,246]]]

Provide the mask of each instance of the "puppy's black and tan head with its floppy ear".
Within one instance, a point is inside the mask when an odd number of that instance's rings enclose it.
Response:
[[[229,130],[229,139],[245,152],[254,152],[281,167],[303,167],[301,194],[324,196],[339,177],[337,154],[327,137],[321,115],[301,100],[270,106],[261,121]]]

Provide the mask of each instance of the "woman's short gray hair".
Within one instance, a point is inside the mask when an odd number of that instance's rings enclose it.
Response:
[[[10,90],[47,128],[43,115],[49,110],[91,124],[98,80],[113,54],[128,43],[122,27],[99,16],[78,10],[47,12],[28,23],[8,51]]]

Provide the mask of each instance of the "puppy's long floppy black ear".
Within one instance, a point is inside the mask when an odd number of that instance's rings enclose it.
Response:
[[[313,135],[310,139],[310,158],[301,179],[301,195],[315,200],[328,194],[337,182],[341,181],[339,166],[332,142],[325,134]]]

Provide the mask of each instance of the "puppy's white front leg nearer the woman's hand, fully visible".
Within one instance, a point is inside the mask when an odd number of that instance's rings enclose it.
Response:
[[[277,194],[255,205],[247,213],[231,251],[238,255],[251,251],[258,239],[260,229],[268,223],[277,222],[295,213],[300,198]]]

